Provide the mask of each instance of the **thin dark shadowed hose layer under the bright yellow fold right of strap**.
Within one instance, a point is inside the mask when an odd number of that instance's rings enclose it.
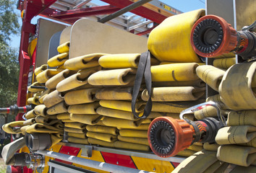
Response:
[[[205,86],[205,82],[201,79],[195,81],[153,81],[152,86],[164,87],[164,86]]]

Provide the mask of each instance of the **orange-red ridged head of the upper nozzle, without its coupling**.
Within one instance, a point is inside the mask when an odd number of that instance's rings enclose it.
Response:
[[[201,17],[195,22],[190,42],[197,55],[208,58],[229,53],[238,43],[236,30],[215,15]]]

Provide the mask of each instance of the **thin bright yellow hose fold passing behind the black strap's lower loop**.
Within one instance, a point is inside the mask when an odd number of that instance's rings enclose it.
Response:
[[[124,110],[132,112],[132,102],[129,101],[119,101],[119,100],[100,100],[100,105],[102,107],[107,107],[114,110]],[[145,107],[145,102],[137,102],[135,105],[136,112],[142,112]]]

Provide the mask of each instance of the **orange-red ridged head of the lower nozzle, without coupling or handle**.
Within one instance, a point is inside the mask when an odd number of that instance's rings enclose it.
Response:
[[[192,127],[184,120],[157,117],[148,128],[148,142],[157,156],[174,156],[189,147],[192,141]]]

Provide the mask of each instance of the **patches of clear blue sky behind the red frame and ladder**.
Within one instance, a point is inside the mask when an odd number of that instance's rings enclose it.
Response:
[[[182,12],[189,12],[195,9],[205,9],[205,0],[160,0],[160,1]],[[92,2],[98,5],[104,4],[102,1],[98,1],[98,0],[93,0]],[[15,10],[15,12],[20,16],[20,10]],[[21,25],[22,23],[21,18],[19,18],[19,20]],[[38,17],[34,17],[31,23],[36,24],[37,20],[38,20]],[[13,48],[19,48],[20,35],[12,36],[11,45]]]

